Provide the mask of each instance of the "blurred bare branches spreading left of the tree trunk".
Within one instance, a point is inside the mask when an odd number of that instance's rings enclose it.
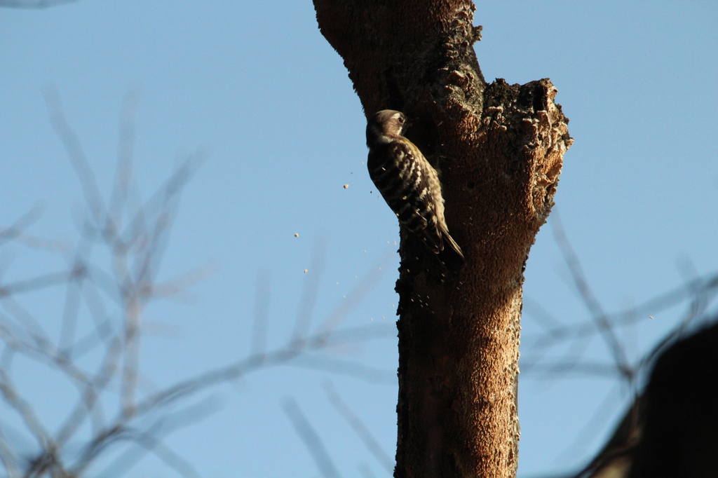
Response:
[[[4,410],[14,413],[20,428],[24,427],[18,431],[14,424],[0,421],[0,463],[7,477],[78,478],[107,465],[111,456],[118,457],[98,476],[120,476],[147,453],[183,477],[197,477],[189,461],[164,444],[164,437],[206,415],[211,407],[203,397],[215,385],[276,365],[325,370],[369,382],[393,381],[391,372],[325,353],[338,344],[395,333],[388,324],[337,329],[381,276],[380,266],[372,266],[347,299],[310,332],[325,261],[326,246],[319,243],[312,253],[312,274],[305,284],[294,331],[284,345],[267,350],[269,279],[261,279],[248,356],[152,393],[141,393],[140,342],[147,304],[176,298],[208,274],[208,267],[200,267],[159,280],[182,190],[206,154],[200,149],[180,161],[157,192],[143,200],[132,170],[137,95],[130,92],[123,103],[116,176],[106,203],[78,136],[62,113],[59,95],[51,88],[45,94],[52,125],[82,187],[85,212],[78,217],[80,239],[74,247],[65,243],[46,247],[60,254],[65,270],[11,281],[5,280],[0,270],[0,399]],[[38,217],[36,207],[9,228],[0,228],[0,248],[11,242],[27,248],[59,244],[27,234]],[[65,287],[64,305],[58,314],[52,314],[60,324],[55,338],[50,321],[35,317],[36,308],[24,302],[60,286]],[[47,367],[77,391],[78,397],[68,403],[57,431],[43,423],[33,404],[35,397],[21,393],[13,380],[14,357]],[[179,406],[185,408],[177,410]]]

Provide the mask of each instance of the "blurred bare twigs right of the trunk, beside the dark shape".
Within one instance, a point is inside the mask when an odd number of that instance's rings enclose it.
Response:
[[[571,273],[572,283],[589,311],[591,319],[590,321],[564,324],[545,311],[540,304],[527,300],[528,314],[536,318],[536,322],[543,329],[543,333],[538,338],[533,339],[532,343],[527,344],[528,348],[523,352],[521,368],[523,372],[542,372],[541,378],[550,376],[560,378],[571,372],[594,378],[612,378],[613,380],[618,380],[620,384],[624,385],[624,388],[628,385],[628,390],[630,391],[628,397],[629,411],[615,431],[614,437],[584,469],[570,476],[573,478],[585,478],[592,477],[595,473],[601,473],[602,470],[606,473],[619,473],[617,471],[619,469],[623,470],[620,472],[623,473],[630,466],[630,461],[625,460],[628,459],[628,454],[640,441],[642,433],[638,417],[639,405],[643,399],[640,390],[641,385],[643,385],[641,380],[648,375],[648,371],[651,370],[653,363],[663,351],[667,350],[679,339],[686,337],[691,330],[700,324],[705,324],[715,319],[715,314],[712,313],[710,307],[714,304],[714,299],[718,295],[718,273],[698,276],[694,268],[690,268],[687,273],[684,273],[685,283],[678,288],[658,294],[638,306],[628,307],[613,314],[608,314],[589,286],[578,256],[569,243],[560,218],[555,214],[555,211],[551,222],[556,243],[559,245],[561,255],[564,257],[564,261]],[[684,269],[686,268],[684,266]],[[686,302],[686,309],[673,329],[671,329],[671,332],[661,339],[658,344],[651,347],[650,350],[643,352],[638,358],[630,360],[626,352],[625,341],[619,338],[616,333],[617,329],[633,326],[639,322],[651,321],[653,317],[649,316],[649,314],[657,315],[661,311],[666,311]],[[602,345],[608,352],[610,361],[599,362],[584,359],[589,342],[594,337],[600,337]],[[559,359],[549,357],[549,351],[562,346],[569,347],[569,352]],[[645,382],[645,380],[643,381]],[[591,433],[591,429],[596,428],[600,423],[605,423],[608,407],[615,405],[617,401],[614,396],[614,393],[607,396],[593,418],[579,432],[574,445],[564,452],[564,456],[574,455],[575,448],[579,444],[587,443],[586,436]],[[609,471],[608,468],[605,468],[609,466],[615,467],[615,469]],[[623,476],[623,474],[617,474],[616,476]]]

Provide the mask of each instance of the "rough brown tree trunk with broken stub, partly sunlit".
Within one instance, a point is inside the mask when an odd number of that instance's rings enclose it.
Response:
[[[441,174],[449,271],[401,233],[394,476],[513,477],[523,267],[572,139],[547,79],[487,84],[467,0],[314,0],[367,115],[396,109]]]

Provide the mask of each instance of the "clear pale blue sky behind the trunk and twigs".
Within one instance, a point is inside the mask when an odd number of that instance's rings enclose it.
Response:
[[[485,78],[551,78],[559,90],[575,143],[556,210],[608,311],[679,286],[691,268],[703,274],[718,265],[716,18],[718,4],[709,1],[477,2],[475,23],[484,29],[475,50]],[[167,385],[245,356],[261,274],[271,283],[269,345],[284,343],[314,271],[304,273],[317,241],[326,244],[326,268],[314,324],[379,266],[385,273],[376,290],[344,326],[393,324],[396,218],[371,193],[362,164],[363,112],[310,1],[80,0],[45,10],[1,9],[0,65],[0,226],[41,204],[45,212],[29,233],[78,237],[82,192],[50,125],[47,85],[60,95],[105,192],[128,90],[139,94],[135,165],[145,197],[178,158],[208,151],[182,196],[159,277],[205,265],[214,272],[192,286],[187,300],[146,309],[148,383]],[[3,281],[62,263],[17,245],[3,254],[9,263]],[[62,294],[52,294],[22,297],[50,330],[61,317]],[[563,322],[589,317],[568,280],[551,220],[531,250],[524,296]],[[625,331],[630,356],[678,317],[656,314]],[[153,327],[160,332],[151,333]],[[539,332],[527,306],[524,344]],[[607,360],[600,342],[587,350]],[[320,476],[282,411],[291,396],[342,476],[363,476],[359,467],[388,476],[330,407],[322,384],[334,383],[393,456],[396,339],[390,330],[329,353],[386,370],[388,380],[372,384],[297,366],[257,372],[216,389],[220,410],[167,444],[204,477]],[[37,373],[20,385],[56,423],[66,404],[48,395],[52,378]],[[522,375],[519,474],[582,464],[625,405],[622,392],[615,380]],[[592,420],[602,403],[604,413]],[[148,456],[128,476],[172,475]]]

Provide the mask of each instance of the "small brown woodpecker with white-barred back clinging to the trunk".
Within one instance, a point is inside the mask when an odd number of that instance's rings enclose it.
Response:
[[[444,197],[436,169],[411,141],[401,136],[404,113],[382,110],[369,118],[369,176],[386,203],[434,253],[444,250],[444,240],[463,259],[444,220]]]

